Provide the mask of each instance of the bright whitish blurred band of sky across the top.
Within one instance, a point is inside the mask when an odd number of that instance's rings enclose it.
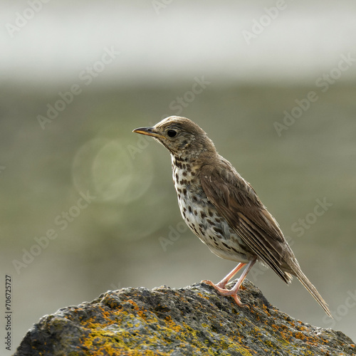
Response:
[[[155,1],[165,6],[159,14],[152,1],[1,2],[1,82],[73,82],[105,47],[120,51],[100,73],[115,84],[203,74],[232,83],[314,83],[342,54],[356,58],[356,1]],[[266,8],[277,5],[283,9],[268,18]],[[31,17],[22,27],[19,14]],[[261,16],[267,26],[248,44],[244,31],[253,33]],[[356,63],[340,80],[355,78]]]

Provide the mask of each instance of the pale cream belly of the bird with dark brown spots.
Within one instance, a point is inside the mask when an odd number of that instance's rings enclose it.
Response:
[[[178,202],[182,217],[189,229],[216,256],[243,263],[251,259],[251,256],[246,255],[246,244],[241,237],[231,229],[226,219],[220,216],[204,194],[192,196],[191,192],[187,191],[185,196],[180,196]]]

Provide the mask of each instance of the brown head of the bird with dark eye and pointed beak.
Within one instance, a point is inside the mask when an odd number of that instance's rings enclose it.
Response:
[[[187,117],[170,116],[153,127],[140,127],[133,132],[152,136],[175,157],[199,157],[206,151],[216,152],[206,132]]]

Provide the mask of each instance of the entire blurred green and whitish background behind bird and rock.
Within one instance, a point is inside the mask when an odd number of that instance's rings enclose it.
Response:
[[[13,350],[43,315],[106,290],[217,282],[234,268],[182,223],[169,153],[132,133],[169,115],[197,122],[253,185],[335,319],[297,280],[261,266],[248,279],[283,312],[356,340],[355,1],[0,9]]]

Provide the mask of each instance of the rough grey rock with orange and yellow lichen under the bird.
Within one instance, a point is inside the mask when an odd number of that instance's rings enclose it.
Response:
[[[108,291],[41,318],[15,355],[356,355],[341,332],[290,318],[251,282],[243,288],[251,308],[205,283]]]

